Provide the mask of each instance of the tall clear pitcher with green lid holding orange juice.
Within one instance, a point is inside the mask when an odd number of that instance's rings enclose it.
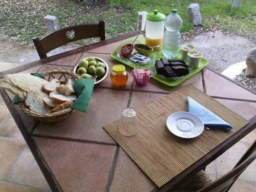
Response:
[[[160,46],[155,50],[162,50],[165,15],[154,10],[146,15],[146,45]]]

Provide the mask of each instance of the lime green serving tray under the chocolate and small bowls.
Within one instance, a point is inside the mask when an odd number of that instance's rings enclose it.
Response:
[[[148,67],[148,65],[140,65],[139,63],[135,64],[131,61],[124,61],[121,58],[119,58],[119,56],[117,55],[119,49],[122,46],[124,46],[125,44],[128,44],[129,42],[132,42],[133,40],[134,40],[134,38],[129,38],[126,41],[124,41],[120,46],[118,46],[118,48],[116,48],[116,50],[114,52],[111,53],[111,57],[113,57],[114,59],[120,61],[121,63],[123,63],[126,66],[129,66],[133,69],[138,68],[138,67]],[[135,43],[145,44],[145,38],[138,38]],[[181,54],[182,54],[182,51],[180,50],[179,58],[181,58]],[[164,57],[165,56],[163,55],[162,51],[157,51],[156,52],[156,59],[160,59],[160,58],[164,58]],[[166,86],[175,87],[175,86],[178,86],[184,80],[188,79],[189,77],[191,77],[191,76],[195,75],[196,73],[198,73],[199,71],[201,71],[207,64],[208,64],[208,61],[205,58],[201,58],[200,67],[197,68],[197,69],[192,69],[189,72],[189,74],[187,74],[183,78],[169,80],[169,79],[162,78],[162,77],[160,77],[156,74],[154,74],[152,76],[152,78],[161,82],[161,83],[163,83],[163,84],[166,84]]]

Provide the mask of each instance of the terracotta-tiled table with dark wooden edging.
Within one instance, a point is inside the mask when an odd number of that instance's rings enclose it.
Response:
[[[133,32],[27,63],[0,72],[0,77],[19,72],[71,71],[81,58],[89,56],[102,58],[111,69],[119,62],[112,59],[110,54],[122,41],[137,35],[142,36]],[[131,72],[130,68],[126,70]],[[159,188],[102,126],[119,118],[127,107],[138,109],[187,84],[216,99],[249,120],[249,123]],[[4,89],[0,89],[0,93],[52,191],[166,191],[196,174],[256,126],[255,106],[247,104],[256,102],[255,93],[207,67],[173,88],[154,79],[146,86],[139,87],[131,76],[125,87],[116,88],[108,76],[95,86],[86,113],[75,111],[69,118],[53,124],[36,122],[25,115],[19,106],[11,105],[11,94]]]

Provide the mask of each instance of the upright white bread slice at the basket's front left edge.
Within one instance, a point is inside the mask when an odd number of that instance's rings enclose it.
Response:
[[[42,102],[40,97],[38,97],[38,95],[32,91],[30,91],[28,93],[25,104],[26,104],[26,106],[28,106],[28,108],[31,111],[38,113],[38,114],[44,114],[44,113],[48,113],[50,111],[50,108],[48,106],[46,106]]]

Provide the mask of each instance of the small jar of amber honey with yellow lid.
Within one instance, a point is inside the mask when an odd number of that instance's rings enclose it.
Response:
[[[128,81],[128,74],[125,71],[123,65],[115,65],[112,68],[112,73],[110,74],[111,82],[116,87],[122,87]]]

